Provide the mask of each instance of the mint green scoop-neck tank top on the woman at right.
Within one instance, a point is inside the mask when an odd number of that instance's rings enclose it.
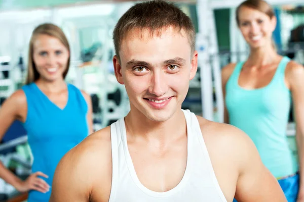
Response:
[[[287,57],[281,60],[274,77],[265,87],[247,90],[239,86],[244,62],[236,65],[226,84],[225,105],[230,124],[252,139],[263,164],[276,178],[298,170],[286,136],[291,93],[284,77],[289,61]]]

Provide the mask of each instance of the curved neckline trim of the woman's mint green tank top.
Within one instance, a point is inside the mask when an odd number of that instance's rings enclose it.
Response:
[[[238,63],[237,67],[236,67],[237,68],[237,72],[236,72],[237,74],[236,74],[236,79],[235,79],[237,88],[244,91],[244,92],[259,92],[259,91],[270,88],[272,86],[272,84],[275,82],[276,78],[278,77],[280,69],[284,65],[285,60],[288,60],[288,58],[283,56],[281,61],[279,62],[279,65],[276,69],[275,74],[273,75],[272,79],[270,80],[270,82],[267,85],[259,87],[259,88],[253,88],[253,89],[246,89],[246,88],[240,86],[240,84],[239,84],[240,74],[241,74],[241,71],[243,69],[243,66],[244,66],[245,62]]]

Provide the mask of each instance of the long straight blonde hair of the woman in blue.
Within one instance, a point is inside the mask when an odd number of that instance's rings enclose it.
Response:
[[[63,33],[63,31],[58,26],[51,24],[51,23],[45,23],[45,24],[41,24],[41,25],[37,26],[34,29],[34,31],[32,32],[30,42],[29,42],[28,69],[27,69],[27,77],[26,77],[25,84],[32,83],[32,82],[36,81],[37,79],[39,79],[39,77],[40,77],[39,73],[37,72],[35,63],[33,61],[33,52],[34,52],[33,44],[34,44],[37,36],[39,36],[41,34],[46,34],[46,35],[57,38],[67,48],[68,52],[70,53],[70,46],[69,46],[68,40],[67,40],[65,34]],[[69,64],[70,64],[70,57],[68,57],[67,67],[66,67],[65,71],[63,72],[63,79],[67,75],[67,72],[69,69]]]

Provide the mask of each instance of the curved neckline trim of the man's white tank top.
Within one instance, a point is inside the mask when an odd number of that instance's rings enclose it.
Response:
[[[186,121],[186,131],[187,131],[187,162],[186,162],[186,169],[184,171],[184,175],[182,179],[179,181],[179,183],[173,187],[172,189],[165,191],[165,192],[157,192],[148,189],[145,187],[140,180],[138,179],[138,176],[136,174],[131,155],[129,153],[128,149],[128,143],[127,143],[127,133],[126,133],[126,126],[125,126],[125,120],[120,119],[120,129],[121,129],[121,138],[123,142],[123,148],[124,148],[124,154],[125,154],[125,159],[126,163],[129,169],[129,173],[131,175],[132,180],[136,184],[136,186],[144,193],[153,196],[153,197],[158,197],[158,198],[163,198],[163,197],[169,197],[170,195],[180,191],[182,187],[186,184],[187,180],[189,179],[193,167],[193,153],[192,153],[192,148],[193,148],[193,135],[192,130],[191,130],[191,115],[187,113],[186,111],[182,110],[185,121]]]

